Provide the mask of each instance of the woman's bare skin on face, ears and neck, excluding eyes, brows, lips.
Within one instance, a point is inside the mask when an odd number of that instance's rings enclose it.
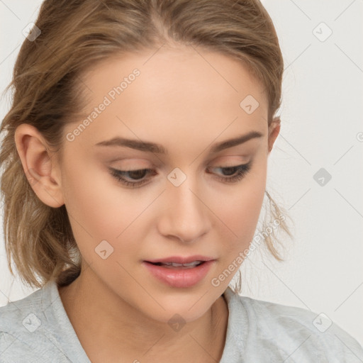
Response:
[[[89,69],[82,77],[90,90],[85,115],[135,68],[140,76],[73,141],[65,140],[62,164],[26,123],[16,130],[16,147],[39,199],[53,208],[65,204],[69,213],[82,273],[59,291],[91,361],[218,362],[228,323],[221,295],[237,270],[219,286],[211,279],[253,238],[280,126],[268,128],[262,88],[240,62],[184,46],[112,57]],[[247,95],[259,102],[251,114],[240,107]],[[64,135],[81,121],[68,124]],[[212,144],[252,130],[263,137],[209,153]],[[115,136],[159,143],[169,153],[94,146]],[[220,179],[236,174],[220,167],[250,160],[240,181]],[[131,189],[108,167],[156,174],[125,174],[147,180]],[[176,167],[186,175],[179,186],[167,179]],[[95,252],[102,240],[113,247],[106,259]],[[199,254],[216,262],[190,288],[167,286],[142,264]],[[179,331],[168,324],[176,313],[186,322]]]

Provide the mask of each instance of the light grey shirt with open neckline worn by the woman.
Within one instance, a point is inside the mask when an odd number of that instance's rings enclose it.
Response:
[[[363,362],[362,346],[326,315],[240,296],[229,287],[224,296],[229,315],[220,363]],[[147,359],[140,353],[135,361]],[[55,282],[0,307],[0,362],[91,362]]]

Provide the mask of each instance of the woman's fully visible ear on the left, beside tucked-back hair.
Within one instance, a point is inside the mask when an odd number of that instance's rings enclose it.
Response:
[[[32,125],[22,123],[15,130],[15,143],[23,169],[38,198],[57,208],[65,202],[57,172],[55,154],[50,152],[43,135]]]

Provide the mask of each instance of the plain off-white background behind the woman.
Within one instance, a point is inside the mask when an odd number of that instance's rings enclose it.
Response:
[[[0,0],[0,91],[41,2]],[[267,190],[296,228],[294,241],[284,240],[286,262],[258,254],[245,261],[244,294],[323,312],[363,345],[363,1],[262,3],[285,61],[281,133],[269,157]],[[317,38],[328,34],[322,22],[333,31],[325,41]],[[1,119],[9,105],[8,94]],[[320,168],[332,176],[324,186],[313,179]],[[11,278],[2,235],[0,306],[32,291]]]

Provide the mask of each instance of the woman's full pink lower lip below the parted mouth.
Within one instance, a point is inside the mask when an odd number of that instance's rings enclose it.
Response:
[[[197,267],[191,269],[168,269],[167,267],[157,266],[150,262],[143,262],[143,265],[151,272],[151,274],[172,287],[190,287],[198,284],[208,271],[215,260],[206,261]]]

